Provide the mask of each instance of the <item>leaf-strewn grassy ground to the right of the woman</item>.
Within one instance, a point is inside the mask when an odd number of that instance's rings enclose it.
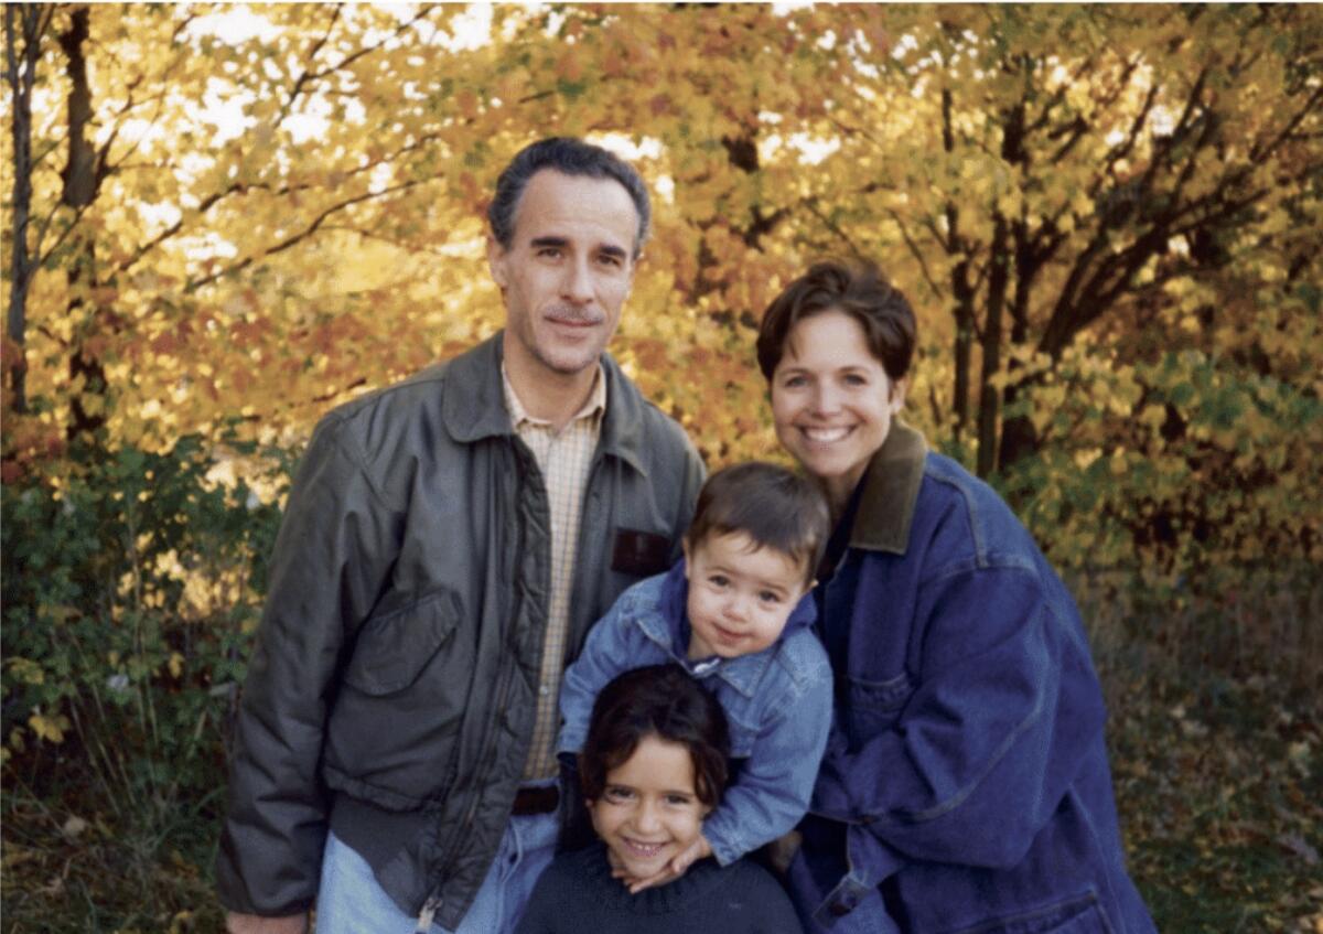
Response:
[[[1077,586],[1160,931],[1323,934],[1323,585],[1299,579],[1166,609]]]

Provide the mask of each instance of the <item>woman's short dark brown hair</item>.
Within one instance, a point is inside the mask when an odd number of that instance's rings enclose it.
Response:
[[[820,262],[771,300],[758,328],[758,368],[770,382],[795,325],[824,311],[839,311],[864,328],[869,352],[892,382],[905,378],[918,324],[909,302],[871,262]]]

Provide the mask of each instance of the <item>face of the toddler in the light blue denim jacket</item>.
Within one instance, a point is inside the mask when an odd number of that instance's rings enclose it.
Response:
[[[803,565],[758,548],[744,532],[709,534],[692,548],[685,542],[684,557],[689,659],[733,659],[767,648],[810,586]]]

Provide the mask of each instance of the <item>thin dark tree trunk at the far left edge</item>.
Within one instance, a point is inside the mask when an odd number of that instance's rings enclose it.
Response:
[[[16,44],[16,22],[22,34],[22,54]],[[28,216],[32,206],[32,86],[37,79],[41,34],[45,30],[42,11],[36,4],[5,7],[5,78],[13,99],[13,242],[11,257],[9,307],[5,331],[17,356],[9,364],[11,405],[16,413],[28,410],[28,286],[32,282],[32,257],[28,254]]]

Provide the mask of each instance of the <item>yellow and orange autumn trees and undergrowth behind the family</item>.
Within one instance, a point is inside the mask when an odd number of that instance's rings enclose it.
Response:
[[[7,927],[216,926],[290,466],[499,327],[486,200],[560,132],[654,187],[613,352],[709,466],[779,456],[779,287],[888,270],[908,418],[1090,619],[1159,927],[1323,930],[1318,8],[11,5],[5,52]]]

